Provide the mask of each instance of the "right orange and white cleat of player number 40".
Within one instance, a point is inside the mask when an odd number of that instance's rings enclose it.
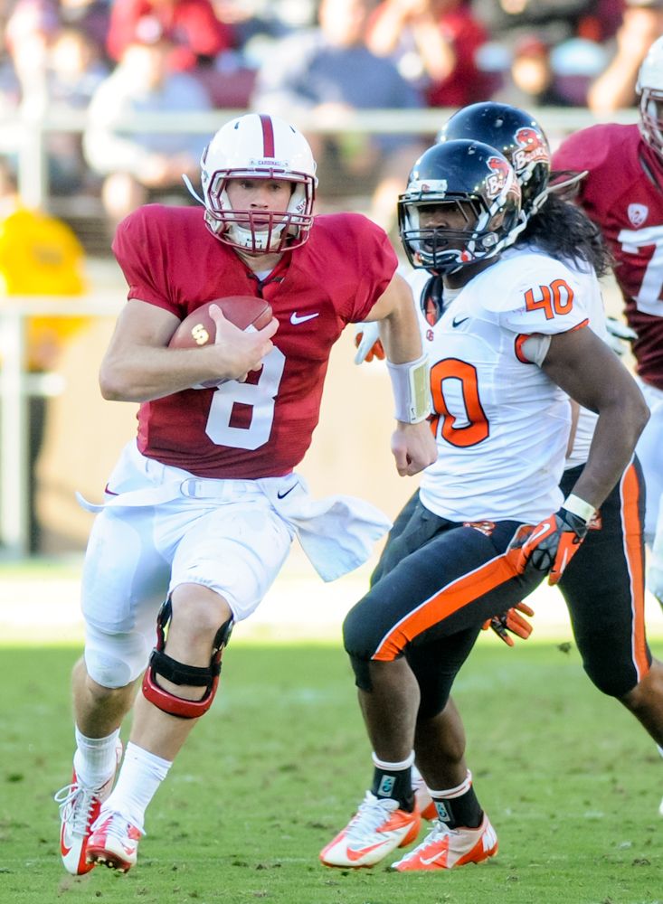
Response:
[[[399,872],[411,870],[450,870],[464,863],[480,863],[497,853],[497,834],[488,816],[478,829],[450,829],[440,820],[433,823],[431,833],[403,860],[392,863]]]

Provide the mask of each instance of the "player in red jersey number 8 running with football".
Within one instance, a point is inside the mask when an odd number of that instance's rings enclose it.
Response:
[[[137,441],[104,504],[87,504],[99,515],[82,579],[85,654],[73,673],[77,749],[71,785],[56,796],[72,873],[136,862],[146,807],[213,701],[232,625],[259,605],[294,535],[330,580],[364,561],[390,526],[362,500],[313,502],[293,472],[347,323],[380,321],[399,473],[436,457],[412,292],[384,231],[358,214],[313,216],[310,148],[278,118],[232,120],[202,168],[204,208],[144,207],[113,245],[128,305],[101,391],[141,406]],[[186,315],[233,295],[268,300],[270,325],[242,333],[213,307],[214,344],[168,347]],[[119,726],[136,694],[111,793]]]

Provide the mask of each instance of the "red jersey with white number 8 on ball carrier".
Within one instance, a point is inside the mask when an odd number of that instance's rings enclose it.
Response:
[[[308,449],[332,345],[364,320],[397,260],[386,234],[360,214],[316,217],[305,245],[263,281],[207,231],[202,208],[148,205],[118,229],[113,251],[129,298],[180,320],[214,298],[264,297],[279,320],[274,349],[246,382],[145,402],[138,448],[201,477],[282,476]]]

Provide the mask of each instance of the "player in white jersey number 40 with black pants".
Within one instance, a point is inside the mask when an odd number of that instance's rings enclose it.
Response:
[[[500,257],[525,225],[519,201],[507,159],[468,139],[429,148],[399,200],[438,459],[346,617],[374,779],[321,852],[329,866],[372,865],[416,837],[415,758],[439,818],[394,868],[449,869],[497,852],[462,749],[446,755],[453,679],[486,620],[546,573],[562,577],[647,420],[635,382],[587,326],[576,270],[534,248]],[[563,494],[567,393],[598,420],[587,464]]]

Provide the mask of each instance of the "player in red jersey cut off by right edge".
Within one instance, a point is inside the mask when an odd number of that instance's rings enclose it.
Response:
[[[638,125],[592,126],[568,137],[555,170],[586,173],[577,202],[601,227],[618,267],[639,386],[651,410],[638,443],[647,485],[647,584],[663,605],[663,38],[639,71]]]

